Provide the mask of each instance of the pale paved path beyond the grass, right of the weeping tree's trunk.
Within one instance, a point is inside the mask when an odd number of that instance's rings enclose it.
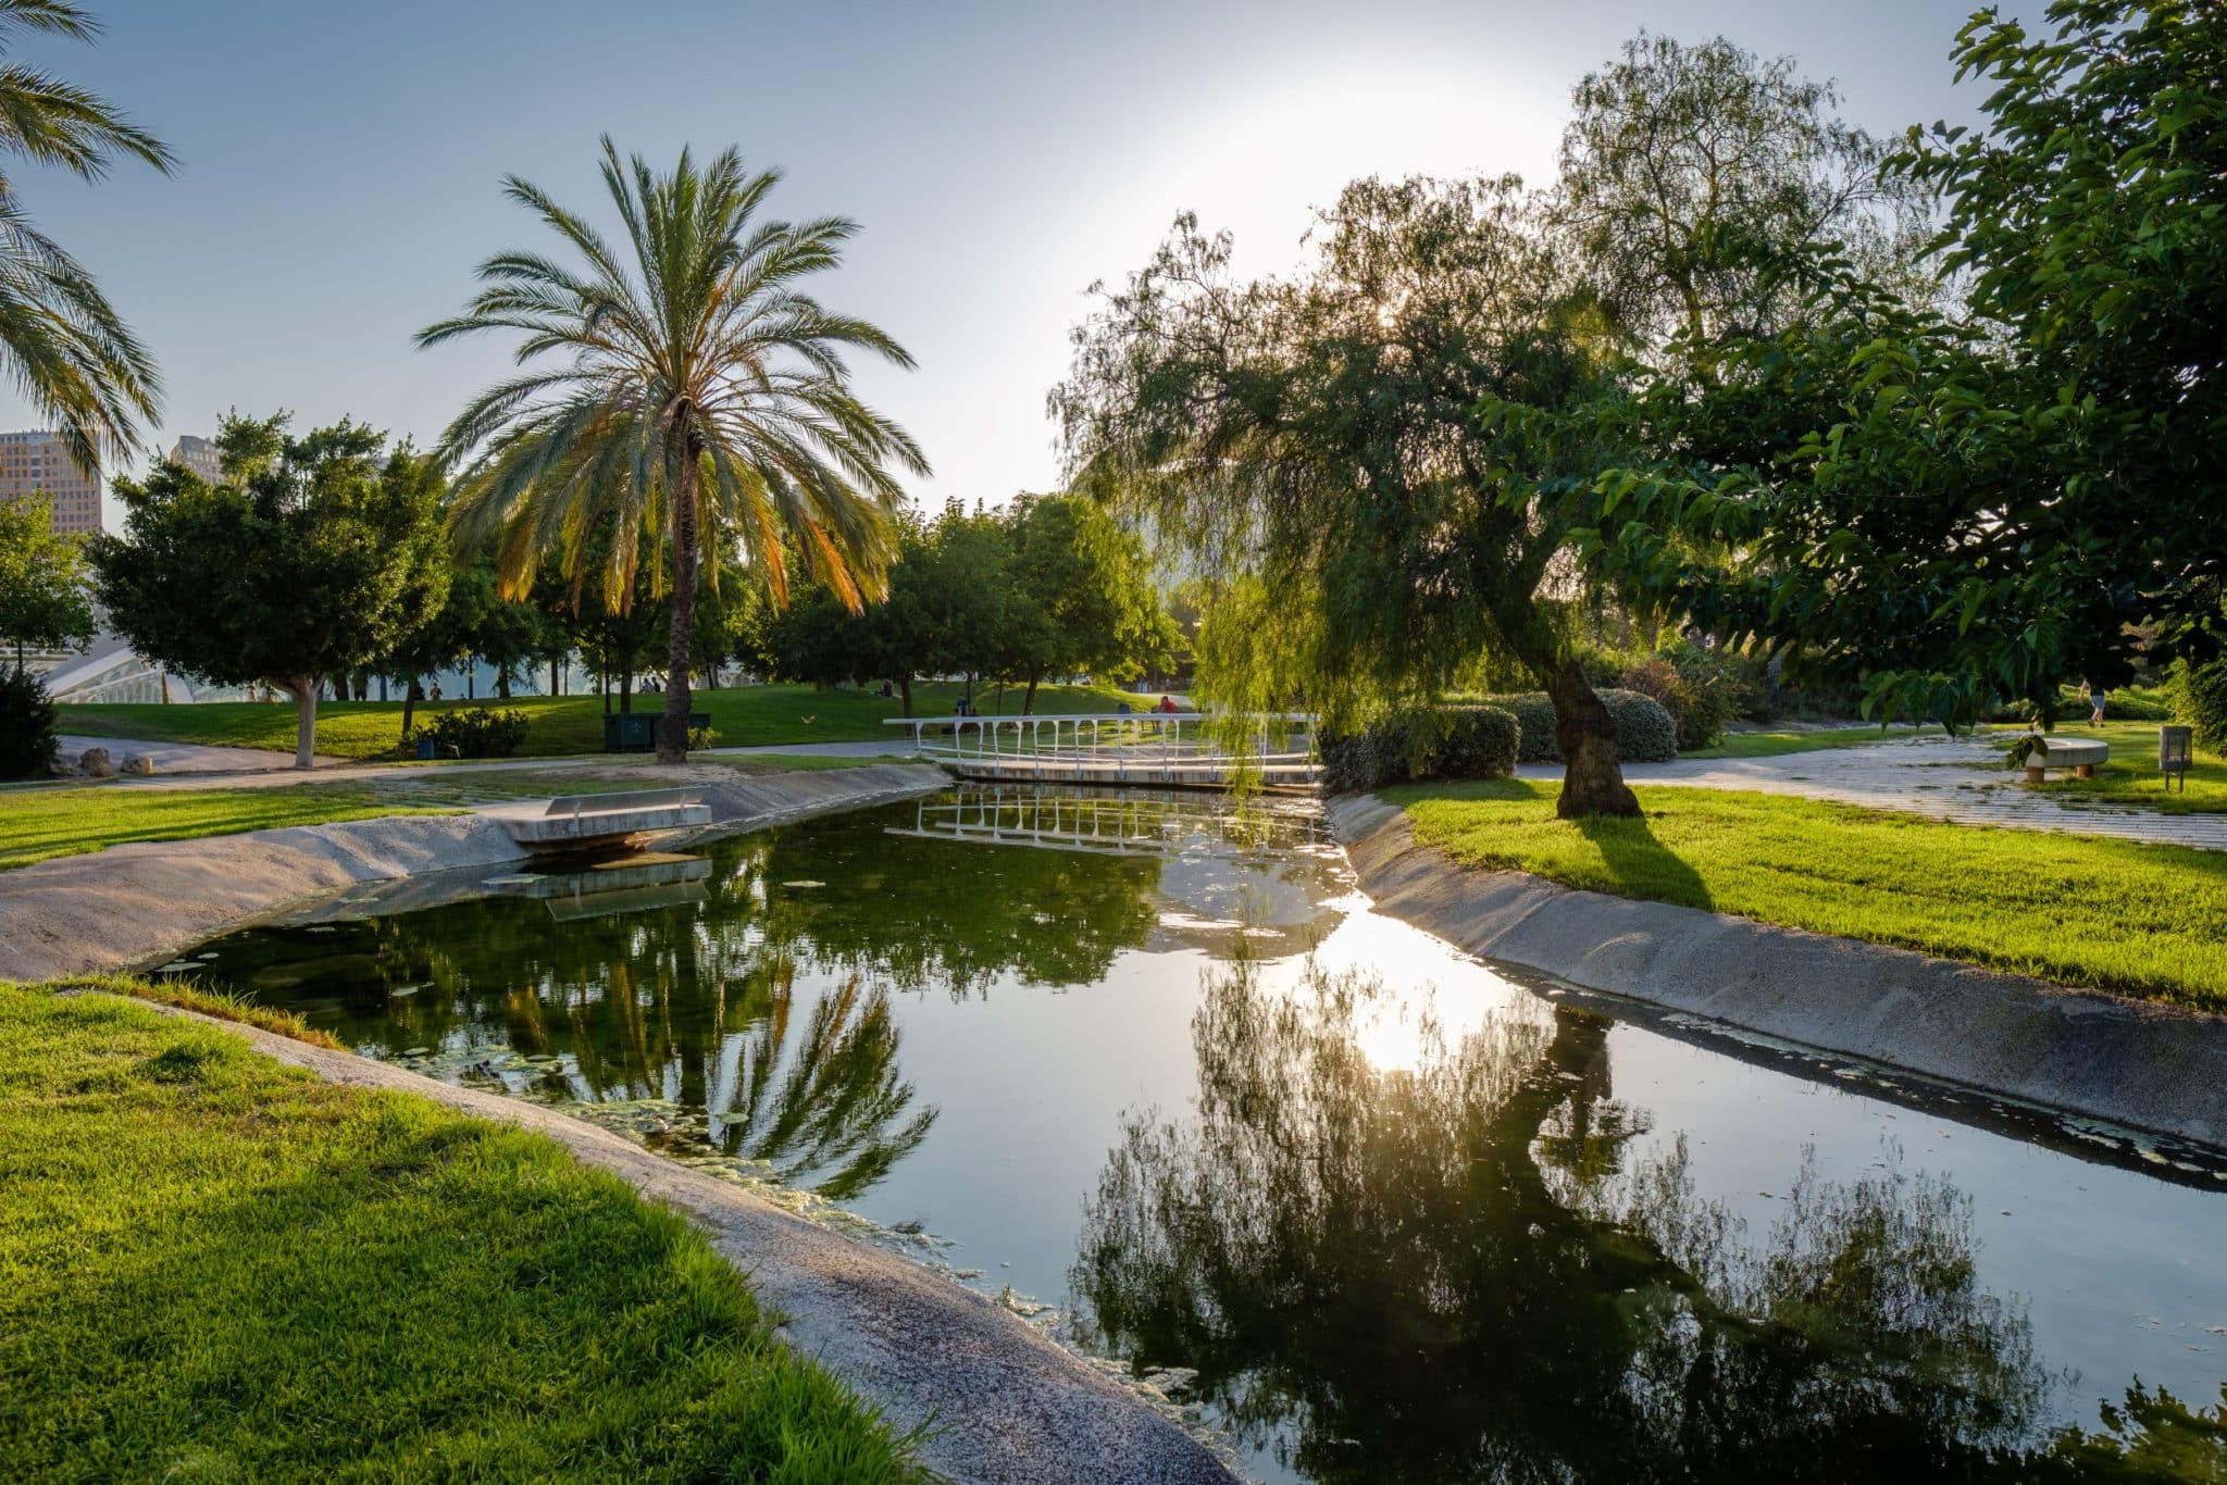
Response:
[[[1523,764],[1525,779],[1559,779],[1559,764]],[[2120,804],[2073,801],[2027,788],[2002,755],[1971,737],[1911,737],[1857,748],[1779,757],[1626,764],[1632,784],[1746,788],[1766,795],[1837,799],[1969,826],[2111,835],[2154,844],[2227,850],[2227,815],[2160,815]]]

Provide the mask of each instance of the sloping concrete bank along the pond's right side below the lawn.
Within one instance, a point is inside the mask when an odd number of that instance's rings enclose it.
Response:
[[[1374,797],[1327,804],[1376,906],[1485,960],[2044,1109],[2227,1149],[2227,1017],[1906,948],[1474,871]]]

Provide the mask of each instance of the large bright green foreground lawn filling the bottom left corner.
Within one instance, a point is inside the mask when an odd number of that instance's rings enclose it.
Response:
[[[555,1142],[0,986],[18,1481],[893,1481],[675,1213]]]

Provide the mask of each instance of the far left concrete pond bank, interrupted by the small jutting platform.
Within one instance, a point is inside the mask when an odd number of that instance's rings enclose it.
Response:
[[[926,764],[815,773],[688,770],[713,824],[686,839],[755,830],[942,788]],[[0,980],[118,971],[356,882],[517,862],[485,815],[394,815],[189,842],[140,842],[0,873]]]

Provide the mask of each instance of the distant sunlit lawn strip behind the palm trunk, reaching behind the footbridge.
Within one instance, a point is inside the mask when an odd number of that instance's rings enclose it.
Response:
[[[964,690],[955,681],[922,681],[913,686],[913,710],[942,717]],[[998,704],[998,690],[984,686],[982,710]],[[1120,701],[1138,706],[1138,697],[1089,688],[1044,686],[1036,692],[1038,712],[1111,712]],[[601,753],[604,699],[586,697],[517,697],[512,701],[419,701],[419,715],[459,706],[514,706],[532,719],[526,732],[526,757],[561,757]],[[659,710],[664,697],[635,697],[635,710]],[[1007,688],[1004,708],[1020,710],[1020,690]],[[900,715],[897,701],[884,701],[869,690],[815,690],[813,686],[739,686],[733,690],[699,690],[695,710],[710,712],[719,746],[757,748],[808,741],[902,741],[897,728],[882,726]],[[1142,710],[1142,706],[1138,706]],[[200,706],[58,706],[60,730],[87,737],[134,737],[149,741],[214,744],[225,748],[294,750],[292,701],[209,701]],[[321,701],[316,708],[316,750],[325,757],[383,757],[401,739],[401,701]]]

